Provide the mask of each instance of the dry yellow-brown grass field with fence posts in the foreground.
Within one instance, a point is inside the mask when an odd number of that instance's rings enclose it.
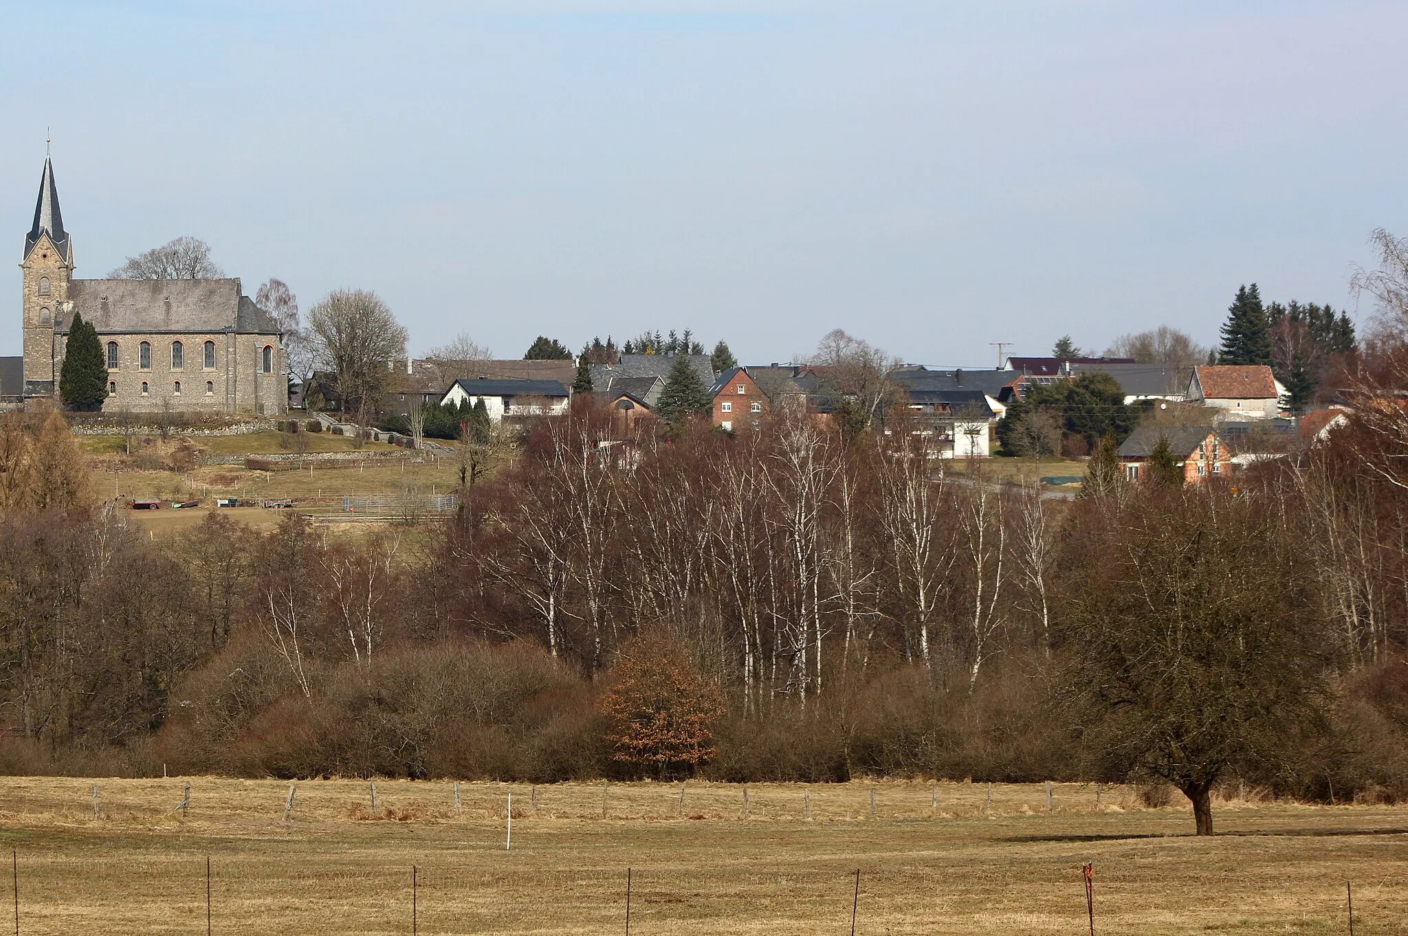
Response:
[[[1100,933],[1408,929],[1408,809],[1219,802],[1219,835],[1131,790],[0,780],[23,933]],[[874,812],[870,795],[874,792]],[[603,816],[603,792],[605,816]],[[504,849],[508,795],[513,849]],[[807,819],[807,798],[811,819]],[[8,925],[8,923],[7,923]]]

